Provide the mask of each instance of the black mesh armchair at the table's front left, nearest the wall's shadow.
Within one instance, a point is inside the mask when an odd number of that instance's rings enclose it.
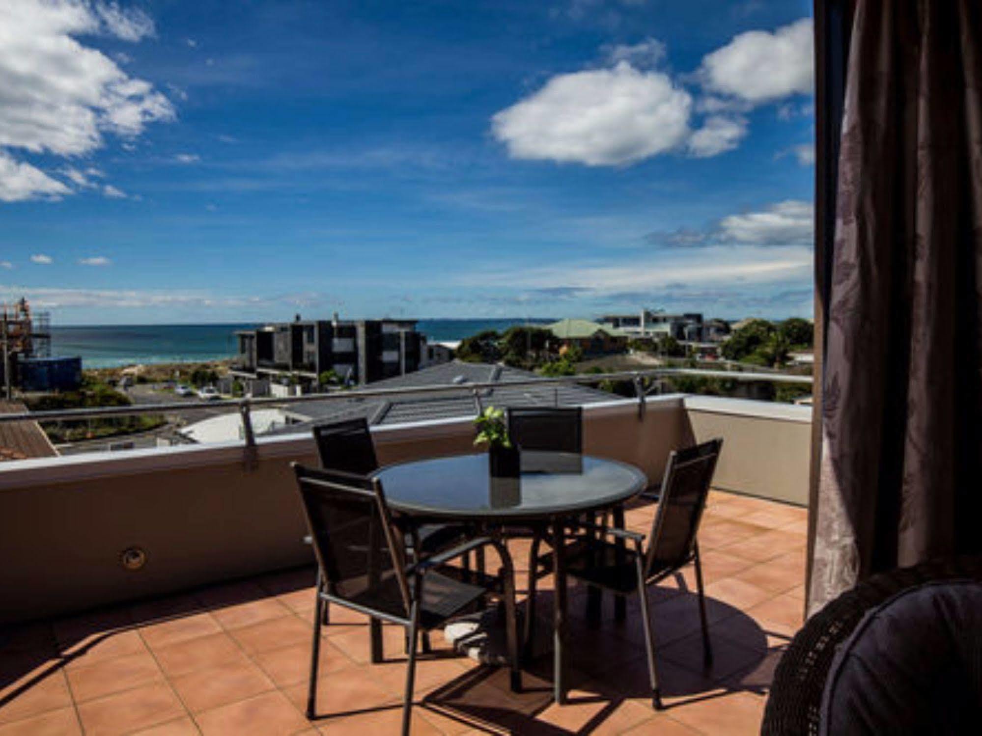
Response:
[[[314,470],[293,463],[313,549],[320,568],[313,621],[306,715],[316,712],[322,606],[344,605],[372,620],[406,627],[409,640],[403,733],[409,733],[416,649],[420,632],[442,626],[487,596],[505,607],[511,684],[521,687],[515,623],[515,576],[508,548],[482,537],[433,556],[409,562],[406,537],[393,523],[382,485],[376,478],[335,470]],[[459,568],[444,563],[487,545],[502,560],[499,577],[476,572],[455,577]]]

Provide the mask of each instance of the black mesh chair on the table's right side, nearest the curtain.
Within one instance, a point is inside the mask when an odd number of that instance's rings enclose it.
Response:
[[[586,534],[566,552],[567,574],[571,577],[621,597],[633,593],[640,597],[652,704],[656,710],[662,709],[662,702],[655,667],[655,641],[647,587],[676,573],[689,562],[695,566],[703,657],[707,665],[713,659],[696,534],[721,447],[722,440],[711,440],[695,447],[675,450],[669,456],[661,499],[646,549],[643,534],[604,527],[594,530],[599,532],[599,539],[595,534]],[[633,549],[624,543],[633,543]],[[546,555],[544,558],[546,568],[552,565],[550,557]]]

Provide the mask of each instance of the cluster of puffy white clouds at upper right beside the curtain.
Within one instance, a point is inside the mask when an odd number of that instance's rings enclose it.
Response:
[[[607,68],[549,79],[497,113],[491,131],[517,159],[627,166],[677,150],[717,156],[746,135],[740,113],[812,92],[812,47],[807,18],[773,32],[740,33],[689,76],[702,91],[693,104],[677,79],[654,69],[665,56],[663,42],[604,46]],[[693,110],[707,116],[699,127],[690,121]]]

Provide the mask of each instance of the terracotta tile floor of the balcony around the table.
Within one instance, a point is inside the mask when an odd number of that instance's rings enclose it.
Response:
[[[652,510],[630,509],[628,526],[647,531]],[[652,595],[667,710],[650,707],[636,602],[617,622],[605,598],[602,623],[591,625],[583,591],[571,586],[569,705],[551,702],[551,657],[526,664],[515,694],[506,672],[456,657],[434,632],[435,655],[417,670],[414,733],[758,733],[775,663],[801,623],[805,517],[713,492],[700,533],[710,669],[691,570]],[[527,542],[513,554],[525,567]],[[364,618],[337,606],[322,646],[322,716],[303,716],[312,584],[312,569],[290,570],[0,630],[0,736],[397,733],[401,629],[385,627],[390,658],[369,664]]]

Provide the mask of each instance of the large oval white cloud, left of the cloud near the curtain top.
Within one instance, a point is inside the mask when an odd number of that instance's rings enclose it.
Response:
[[[691,104],[668,75],[620,62],[549,79],[497,113],[492,132],[513,158],[627,165],[682,145]]]

